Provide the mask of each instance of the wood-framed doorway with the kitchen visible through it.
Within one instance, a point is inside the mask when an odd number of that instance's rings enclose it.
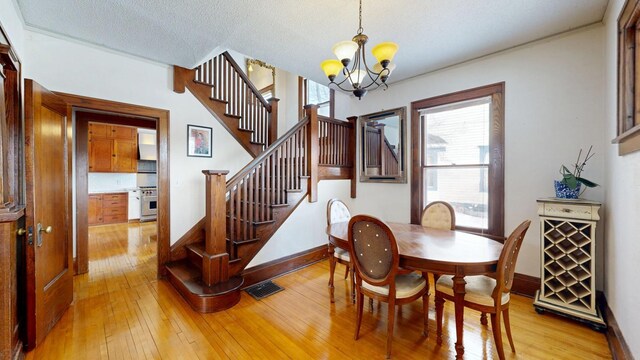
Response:
[[[70,155],[75,154],[73,168],[75,172],[74,265],[76,273],[82,274],[89,271],[89,224],[95,221],[103,223],[106,221],[107,223],[119,222],[121,225],[114,226],[114,229],[121,227],[125,234],[130,233],[127,230],[129,224],[139,223],[140,233],[146,234],[148,238],[157,239],[157,251],[154,251],[153,255],[157,254],[158,276],[162,276],[162,265],[169,255],[170,234],[169,111],[77,95],[57,94],[71,104],[67,112],[69,118],[75,121],[75,147],[68,151]],[[154,129],[155,135],[152,133]],[[97,134],[90,135],[89,132],[94,130]],[[89,149],[90,136],[97,142],[93,153]],[[155,137],[155,144],[152,145],[149,140],[153,137]],[[145,145],[150,146],[145,150],[140,148],[140,144],[143,148]],[[98,156],[101,152],[110,153],[112,159],[108,159],[104,154]],[[141,152],[142,160],[140,160]],[[145,158],[145,152],[155,153],[155,164],[151,163],[153,160]],[[106,171],[107,166],[109,171]],[[106,176],[92,176],[98,173]],[[128,176],[114,176],[117,173],[128,174]],[[94,181],[96,179],[97,182]],[[101,184],[101,181],[106,182],[107,185]],[[143,183],[145,181],[146,184]],[[110,192],[111,189],[107,189],[109,182],[116,191]],[[155,184],[156,188],[146,189],[145,197],[140,188],[152,186],[150,184]],[[91,199],[90,190],[95,193],[94,195],[103,195],[102,198],[97,196]],[[150,190],[155,194],[150,193]],[[107,194],[106,199],[104,194]],[[146,218],[143,218],[143,198],[148,200],[145,203],[148,206],[147,210],[156,212],[155,223],[152,214],[145,213]],[[98,200],[101,200],[103,210],[100,220],[96,219],[95,211],[90,211],[92,209],[90,202]],[[126,222],[124,222],[125,217]],[[129,223],[130,217],[135,222]],[[134,220],[135,217],[138,220]],[[140,219],[143,222],[139,222]],[[144,222],[144,220],[151,220],[151,222]]]

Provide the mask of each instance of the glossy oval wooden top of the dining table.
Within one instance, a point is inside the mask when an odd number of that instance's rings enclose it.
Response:
[[[348,222],[327,226],[337,246],[346,247]],[[502,244],[462,231],[425,228],[421,225],[387,223],[396,237],[400,258],[441,264],[495,265]]]

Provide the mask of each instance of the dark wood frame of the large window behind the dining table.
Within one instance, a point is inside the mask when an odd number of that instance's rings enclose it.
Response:
[[[505,83],[481,86],[473,89],[440,95],[411,103],[411,223],[419,224],[420,215],[424,208],[422,189],[422,143],[423,124],[420,110],[446,105],[450,103],[492,97],[492,119],[490,149],[491,162],[489,164],[489,235],[504,237],[504,88]],[[482,234],[481,234],[482,235]]]

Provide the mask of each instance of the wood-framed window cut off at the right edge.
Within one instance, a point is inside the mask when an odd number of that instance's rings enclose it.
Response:
[[[627,1],[618,18],[618,153],[640,150],[640,0]],[[632,141],[633,140],[633,141]]]

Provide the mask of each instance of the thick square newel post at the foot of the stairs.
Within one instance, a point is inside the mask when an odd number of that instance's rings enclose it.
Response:
[[[214,285],[229,279],[227,253],[227,179],[228,170],[202,170],[206,177],[205,253],[202,256],[202,281]]]

